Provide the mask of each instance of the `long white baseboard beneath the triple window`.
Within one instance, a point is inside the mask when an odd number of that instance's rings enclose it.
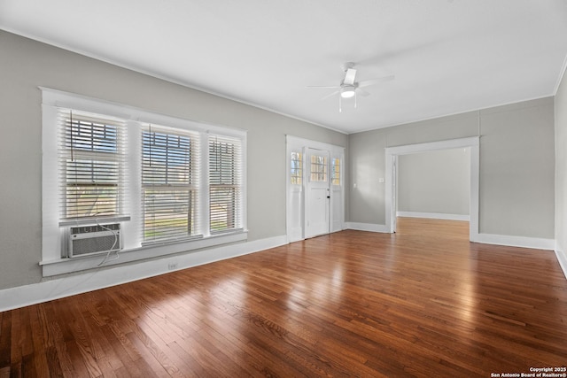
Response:
[[[193,251],[151,261],[142,261],[126,266],[113,266],[112,268],[88,271],[83,274],[48,278],[39,283],[0,290],[0,312],[61,297],[70,297],[121,283],[142,280],[191,266],[200,266],[226,258],[268,250],[286,243],[286,236],[281,235],[247,243],[224,245],[205,251]],[[175,265],[175,269],[170,269],[169,266],[171,265]]]

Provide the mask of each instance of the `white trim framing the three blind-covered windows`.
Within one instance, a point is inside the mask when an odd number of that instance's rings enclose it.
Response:
[[[128,132],[128,182],[131,190],[128,190],[130,197],[128,209],[129,220],[120,219],[122,221],[122,235],[124,240],[124,249],[120,251],[120,258],[105,263],[104,266],[113,266],[126,262],[141,260],[145,258],[156,258],[166,256],[172,253],[180,253],[185,251],[193,251],[214,245],[224,243],[235,243],[245,241],[247,239],[247,216],[246,216],[246,131],[243,129],[220,127],[208,125],[202,122],[192,120],[183,120],[180,118],[158,114],[155,112],[147,112],[128,105],[112,103],[96,98],[75,95],[72,93],[60,91],[57,89],[49,89],[40,87],[43,93],[43,189],[42,189],[42,212],[43,212],[43,229],[42,229],[42,260],[40,265],[43,266],[43,276],[51,276],[57,274],[66,274],[76,271],[88,270],[99,267],[105,255],[85,256],[82,258],[61,258],[61,248],[65,243],[65,229],[59,224],[59,181],[58,181],[58,125],[57,108],[65,107],[82,112],[92,112],[104,114],[106,116],[116,117],[127,120]],[[201,135],[201,142],[206,141],[206,135],[219,134],[237,137],[242,140],[243,157],[243,226],[240,231],[235,231],[222,235],[210,235],[208,229],[203,238],[198,240],[190,240],[185,242],[164,242],[154,245],[142,246],[141,235],[136,229],[141,224],[142,214],[141,206],[141,185],[140,178],[140,158],[141,158],[141,123],[153,123],[164,125],[167,127],[175,127],[196,131]],[[206,144],[202,144],[206,147]],[[206,153],[207,148],[201,148],[201,154]],[[208,193],[208,178],[206,157],[201,157],[202,176],[200,180],[201,193]],[[202,197],[201,206],[204,207],[200,212],[201,225],[208,225],[208,197]],[[207,226],[208,227],[208,226]]]

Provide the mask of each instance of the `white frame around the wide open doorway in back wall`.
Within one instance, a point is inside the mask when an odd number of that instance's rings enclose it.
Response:
[[[479,162],[480,162],[480,138],[471,136],[469,138],[450,139],[446,141],[406,144],[397,147],[387,147],[385,149],[385,227],[386,232],[392,234],[396,231],[396,204],[395,197],[397,195],[396,182],[397,177],[397,159],[400,155],[408,155],[412,153],[427,152],[432,150],[451,150],[457,148],[470,147],[470,229],[469,240],[471,242],[478,241],[478,180],[479,180]]]

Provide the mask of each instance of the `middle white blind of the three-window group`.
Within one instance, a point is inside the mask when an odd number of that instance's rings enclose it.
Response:
[[[198,225],[199,135],[147,126],[142,132],[143,241],[201,234]]]

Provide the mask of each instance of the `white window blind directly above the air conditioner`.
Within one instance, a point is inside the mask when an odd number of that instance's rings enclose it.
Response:
[[[123,215],[124,124],[104,116],[58,110],[60,220]]]

